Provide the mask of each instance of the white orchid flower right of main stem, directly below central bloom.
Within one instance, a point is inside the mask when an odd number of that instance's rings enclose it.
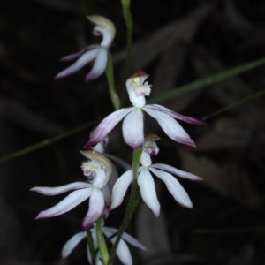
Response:
[[[143,145],[142,154],[140,157],[140,168],[138,172],[138,186],[140,187],[140,195],[142,200],[148,205],[155,216],[160,214],[160,204],[157,200],[155,193],[155,181],[152,174],[157,178],[160,178],[166,185],[170,194],[173,196],[175,201],[186,208],[193,208],[193,203],[190,200],[185,189],[180,185],[177,178],[173,177],[176,175],[180,178],[186,178],[191,180],[201,180],[201,178],[188,173],[183,170],[178,170],[168,164],[164,163],[152,163],[151,155],[157,155],[159,149],[155,141],[145,141]],[[117,179],[111,197],[110,210],[117,208],[123,201],[128,186],[133,182],[133,170],[127,170],[120,178]]]

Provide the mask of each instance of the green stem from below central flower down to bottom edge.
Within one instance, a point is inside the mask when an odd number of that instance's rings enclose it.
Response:
[[[111,265],[113,263],[118,243],[120,239],[122,238],[122,235],[125,232],[127,226],[129,225],[134,211],[136,210],[135,202],[139,201],[137,178],[138,178],[141,150],[142,148],[140,147],[133,151],[133,184],[131,188],[130,198],[129,198],[128,205],[126,208],[124,220],[119,228],[119,231],[117,232],[117,238],[110,251],[110,259],[108,261],[108,265]]]

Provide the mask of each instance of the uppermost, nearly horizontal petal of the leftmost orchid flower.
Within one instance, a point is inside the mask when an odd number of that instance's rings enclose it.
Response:
[[[73,182],[64,186],[34,186],[30,189],[31,192],[41,193],[43,195],[54,196],[61,193],[67,193],[72,190],[82,189],[91,186],[86,182]]]

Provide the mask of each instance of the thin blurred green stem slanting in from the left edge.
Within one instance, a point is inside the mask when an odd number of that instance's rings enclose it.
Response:
[[[0,156],[0,164],[5,163],[11,159],[17,158],[19,156],[27,155],[28,153],[34,152],[38,149],[46,148],[49,145],[57,142],[58,140],[63,140],[64,138],[70,137],[75,133],[79,133],[81,131],[84,131],[85,129],[95,125],[96,122],[97,121],[93,121],[93,122],[90,122],[90,123],[87,123],[84,125],[80,125],[79,127],[73,128],[70,131],[66,131],[64,133],[59,133],[54,137],[39,141],[39,142],[35,143],[34,145],[28,146],[27,148],[19,149],[18,151],[15,151],[15,152],[8,154],[8,155],[2,155],[2,156]]]

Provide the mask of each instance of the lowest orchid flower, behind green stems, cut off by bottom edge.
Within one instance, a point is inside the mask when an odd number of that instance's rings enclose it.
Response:
[[[98,244],[97,244],[97,240],[96,240],[95,228],[94,227],[91,228],[90,231],[92,234],[94,249],[96,250],[96,249],[98,249]],[[102,232],[103,232],[104,236],[107,239],[110,239],[112,244],[114,244],[114,242],[116,240],[115,234],[117,234],[117,231],[118,230],[116,228],[112,228],[112,227],[103,226],[103,228],[102,228]],[[74,236],[72,236],[72,238],[69,239],[63,247],[62,258],[66,259],[72,253],[73,249],[79,244],[79,242],[82,239],[86,239],[86,238],[87,238],[87,232],[86,231],[81,231],[81,232],[75,234]],[[123,233],[122,239],[119,241],[118,246],[117,246],[117,257],[119,258],[119,260],[123,264],[132,265],[133,264],[133,258],[132,258],[132,255],[130,253],[129,247],[127,246],[126,242],[133,245],[133,246],[140,248],[143,251],[147,251],[147,248],[145,246],[143,246],[137,239],[134,239],[129,234]],[[89,252],[88,247],[87,247],[87,260],[90,264],[92,264],[92,257],[91,257],[91,254]],[[102,265],[102,261],[100,260],[99,252],[97,252],[97,254],[96,254],[95,264],[96,265]]]

